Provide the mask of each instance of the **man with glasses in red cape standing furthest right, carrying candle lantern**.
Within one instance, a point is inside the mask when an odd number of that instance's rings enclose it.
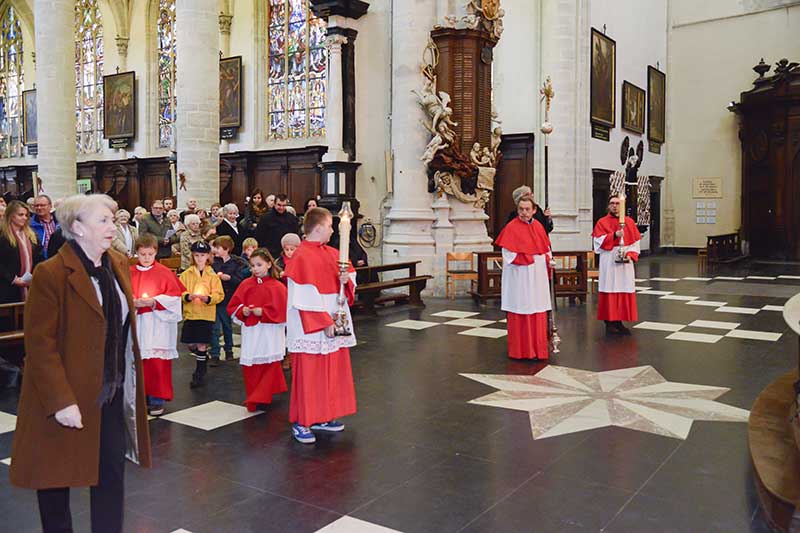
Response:
[[[639,319],[636,310],[636,280],[633,265],[639,260],[642,235],[630,217],[620,223],[624,207],[619,196],[608,201],[608,214],[597,221],[592,232],[594,251],[600,256],[600,294],[597,319],[604,320],[609,334],[630,335],[623,322]]]

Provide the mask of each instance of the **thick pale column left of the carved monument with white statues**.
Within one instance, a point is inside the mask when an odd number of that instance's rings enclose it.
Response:
[[[419,259],[418,272],[434,270],[436,254],[432,224],[436,220],[428,192],[428,177],[420,155],[430,133],[420,124],[427,117],[412,90],[423,85],[420,65],[430,29],[436,22],[436,2],[393,2],[392,17],[392,197],[384,220],[383,261]]]

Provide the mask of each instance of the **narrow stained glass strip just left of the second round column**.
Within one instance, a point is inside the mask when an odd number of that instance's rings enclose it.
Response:
[[[175,0],[158,2],[158,146],[172,146],[175,131]]]

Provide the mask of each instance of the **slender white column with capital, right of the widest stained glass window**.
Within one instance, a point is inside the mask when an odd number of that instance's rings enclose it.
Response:
[[[344,101],[342,91],[342,45],[347,37],[331,34],[325,39],[328,49],[328,87],[327,108],[325,109],[325,132],[328,138],[328,152],[323,161],[349,161],[344,151]]]

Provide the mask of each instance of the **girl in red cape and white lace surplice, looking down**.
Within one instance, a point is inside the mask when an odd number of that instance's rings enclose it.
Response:
[[[244,280],[228,303],[228,314],[242,327],[244,404],[248,411],[272,403],[286,392],[281,361],[286,353],[286,286],[275,260],[265,248],[250,255],[252,276]]]

